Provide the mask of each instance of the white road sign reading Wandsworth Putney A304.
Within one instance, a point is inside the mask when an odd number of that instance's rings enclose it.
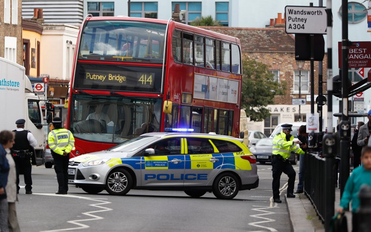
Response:
[[[326,7],[286,6],[286,33],[326,34]]]

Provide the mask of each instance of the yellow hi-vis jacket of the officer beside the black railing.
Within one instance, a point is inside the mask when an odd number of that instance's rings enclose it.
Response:
[[[273,138],[273,155],[280,155],[284,159],[288,159],[290,157],[291,151],[302,155],[305,152],[299,148],[294,142],[294,136],[291,135],[290,141],[286,140],[286,134],[281,131],[281,133],[277,134]]]

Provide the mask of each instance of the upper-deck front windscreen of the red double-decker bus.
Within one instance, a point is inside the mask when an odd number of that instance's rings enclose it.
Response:
[[[83,28],[79,60],[162,64],[165,24],[133,21],[88,21]]]

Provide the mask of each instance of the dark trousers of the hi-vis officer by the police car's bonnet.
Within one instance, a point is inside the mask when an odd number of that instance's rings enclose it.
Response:
[[[54,159],[54,170],[57,174],[58,181],[58,192],[67,193],[68,192],[68,162],[70,159],[70,154],[67,156],[58,155],[56,153],[51,154]]]

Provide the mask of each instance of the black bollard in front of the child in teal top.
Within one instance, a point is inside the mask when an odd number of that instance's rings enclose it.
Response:
[[[368,232],[371,228],[371,188],[367,184],[362,184],[358,193],[358,231]]]

